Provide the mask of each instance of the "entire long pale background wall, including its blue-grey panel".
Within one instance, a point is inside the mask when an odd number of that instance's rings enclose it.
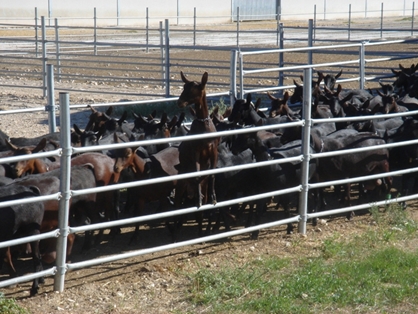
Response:
[[[92,26],[145,26],[158,25],[168,19],[171,25],[219,24],[236,21],[294,21],[335,20],[358,18],[382,18],[414,16],[415,2],[363,0],[341,3],[327,0],[270,0],[260,5],[245,0],[212,0],[195,6],[185,0],[160,0],[158,3],[135,1],[74,0],[62,1],[20,0],[2,6],[0,21],[27,24],[28,21],[45,16],[47,24],[53,25],[56,18],[67,25]]]

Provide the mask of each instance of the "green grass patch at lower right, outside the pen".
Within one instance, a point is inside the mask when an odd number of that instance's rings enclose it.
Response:
[[[418,252],[399,243],[417,238],[417,223],[395,205],[371,214],[376,226],[350,239],[326,239],[317,257],[265,256],[242,267],[201,268],[190,301],[209,313],[385,313],[413,306]]]

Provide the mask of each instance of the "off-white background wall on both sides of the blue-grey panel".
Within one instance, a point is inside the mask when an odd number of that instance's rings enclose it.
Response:
[[[97,23],[104,25],[146,24],[170,20],[170,24],[193,24],[196,8],[198,24],[217,24],[231,21],[233,0],[0,0],[0,23],[33,24],[35,8],[38,17],[57,18],[60,25],[93,25],[94,8]],[[281,3],[281,20],[341,19],[348,18],[349,2],[335,0],[271,0]],[[383,3],[384,16],[412,15],[412,0],[356,0],[351,4],[352,18],[380,17]],[[274,17],[275,12],[271,12]]]

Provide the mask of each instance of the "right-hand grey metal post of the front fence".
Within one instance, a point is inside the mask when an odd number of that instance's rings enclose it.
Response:
[[[310,162],[310,134],[311,134],[311,102],[312,102],[312,68],[303,70],[303,120],[302,128],[302,165],[301,185],[299,194],[299,225],[298,232],[306,234],[306,222],[308,213],[308,192],[309,192],[309,162]]]

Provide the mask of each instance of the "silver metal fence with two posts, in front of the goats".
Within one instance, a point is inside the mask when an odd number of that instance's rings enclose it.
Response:
[[[311,48],[311,49],[317,49],[317,48]],[[336,66],[338,64],[329,64],[330,66]],[[51,231],[46,234],[41,234],[39,236],[35,237],[26,237],[19,240],[12,240],[0,243],[0,247],[9,247],[17,244],[26,243],[33,240],[41,240],[51,237],[57,237],[58,238],[58,245],[57,245],[57,260],[56,260],[56,266],[50,267],[49,269],[46,269],[39,273],[34,273],[18,278],[13,278],[10,280],[5,280],[0,282],[0,287],[7,287],[12,284],[26,282],[29,280],[32,280],[33,278],[41,277],[41,276],[55,276],[54,281],[54,289],[57,291],[63,291],[64,290],[64,283],[65,283],[65,274],[66,271],[71,269],[80,269],[84,267],[89,267],[93,265],[98,265],[102,263],[108,263],[116,260],[126,259],[126,258],[132,258],[135,256],[140,256],[144,254],[150,254],[153,252],[163,251],[163,250],[171,250],[174,248],[178,248],[181,246],[187,246],[202,242],[208,242],[213,241],[220,238],[227,238],[231,236],[236,236],[239,234],[249,233],[253,232],[255,230],[259,229],[265,229],[270,228],[274,226],[284,225],[288,223],[298,223],[298,229],[300,233],[306,232],[306,224],[309,219],[315,218],[315,217],[322,217],[322,216],[329,216],[334,214],[340,214],[345,213],[349,211],[356,211],[360,209],[366,209],[370,208],[372,206],[384,206],[393,202],[402,202],[402,201],[408,201],[411,199],[416,199],[418,195],[410,195],[410,196],[404,196],[399,197],[396,199],[389,199],[389,200],[381,200],[378,202],[375,202],[373,204],[359,204],[352,207],[345,207],[345,208],[337,208],[332,210],[327,210],[323,212],[317,212],[317,213],[308,213],[308,192],[310,189],[314,188],[322,188],[327,187],[331,185],[341,185],[344,183],[354,183],[354,182],[361,182],[365,180],[370,179],[380,179],[382,177],[386,176],[398,176],[405,173],[411,173],[418,171],[418,168],[413,169],[407,169],[402,171],[393,171],[383,174],[376,174],[371,176],[364,176],[360,178],[351,178],[348,180],[338,180],[338,181],[329,181],[329,182],[321,182],[321,183],[310,183],[308,181],[308,163],[313,158],[323,158],[325,156],[333,156],[338,154],[347,154],[351,153],[353,151],[360,152],[360,151],[366,151],[366,150],[374,150],[374,149],[381,149],[383,147],[392,148],[396,146],[401,145],[413,145],[418,144],[418,140],[413,140],[409,142],[403,142],[403,143],[396,143],[396,144],[388,144],[388,145],[381,145],[381,146],[373,146],[373,147],[366,147],[362,149],[356,149],[356,150],[342,150],[342,151],[335,151],[335,152],[327,152],[327,153],[314,153],[310,154],[309,152],[309,144],[310,144],[310,128],[314,124],[319,123],[332,123],[336,121],[357,121],[357,120],[370,120],[370,119],[378,119],[380,116],[366,116],[366,117],[356,117],[356,118],[334,118],[334,119],[311,119],[310,116],[310,110],[311,110],[311,81],[312,81],[312,69],[316,65],[305,65],[301,67],[303,70],[303,81],[304,84],[304,102],[303,102],[303,112],[304,117],[301,121],[291,122],[287,123],[285,125],[269,125],[269,126],[263,126],[263,127],[254,127],[254,128],[246,128],[236,131],[224,131],[224,132],[217,132],[216,134],[201,134],[196,136],[187,136],[187,137],[181,137],[181,138],[168,138],[168,139],[158,139],[158,140],[151,140],[151,141],[140,141],[140,142],[129,142],[129,143],[123,143],[123,144],[114,144],[114,145],[101,145],[101,146],[93,146],[93,147],[84,147],[84,148],[75,148],[71,147],[70,144],[70,115],[69,110],[73,107],[80,107],[81,105],[75,105],[71,106],[69,104],[69,93],[67,92],[61,92],[59,97],[59,106],[60,106],[60,127],[61,127],[61,141],[60,145],[61,147],[55,151],[47,152],[47,153],[37,153],[33,154],[31,156],[18,156],[18,157],[7,157],[7,158],[1,158],[0,163],[9,163],[9,162],[15,162],[19,160],[26,160],[36,157],[47,157],[47,156],[61,156],[61,192],[57,193],[55,195],[45,196],[45,197],[39,197],[39,198],[28,198],[25,200],[19,200],[19,201],[8,201],[8,202],[1,202],[0,207],[9,206],[11,204],[23,204],[26,202],[37,202],[37,201],[44,201],[46,199],[58,199],[60,202],[60,215],[59,215],[59,228],[57,230]],[[283,69],[275,69],[275,70],[282,70],[286,71],[286,68]],[[52,71],[51,71],[52,73]],[[52,78],[50,78],[52,79]],[[51,85],[51,84],[49,84]],[[210,95],[208,95],[210,96]],[[166,101],[176,101],[177,98],[170,98],[166,99]],[[130,103],[115,103],[115,104],[97,104],[97,106],[108,106],[108,105],[131,105],[133,103],[138,102],[130,102]],[[85,106],[84,106],[85,107]],[[14,113],[18,113],[19,110],[14,111]],[[0,112],[0,114],[5,114],[6,112]],[[417,114],[418,112],[405,112],[405,113],[399,113],[399,114],[391,114],[390,117],[393,116],[411,116],[413,114]],[[389,117],[388,116],[388,117]],[[142,180],[142,181],[136,181],[136,182],[130,182],[130,183],[121,183],[117,185],[111,185],[111,186],[105,186],[105,187],[99,187],[94,189],[87,189],[87,190],[70,190],[69,180],[70,180],[70,158],[72,154],[81,153],[81,152],[89,152],[89,151],[97,151],[100,149],[117,149],[117,148],[124,148],[124,147],[138,147],[140,145],[151,145],[151,144],[161,144],[161,143],[169,143],[169,142],[178,142],[178,141],[186,141],[186,140],[194,140],[194,139],[203,139],[203,138],[209,138],[213,136],[226,136],[230,134],[240,134],[240,133],[246,133],[246,132],[254,132],[256,130],[272,130],[275,128],[283,128],[283,127],[294,127],[294,126],[302,126],[302,138],[303,138],[303,147],[302,147],[302,153],[300,156],[292,157],[292,158],[286,158],[282,160],[269,160],[265,162],[257,162],[252,164],[245,164],[240,166],[234,166],[234,167],[225,167],[221,169],[215,169],[215,170],[207,170],[207,171],[201,171],[199,173],[187,173],[187,174],[181,174],[176,175],[168,178],[159,178],[159,179],[152,179],[152,180]],[[182,208],[177,209],[169,212],[164,213],[158,213],[158,214],[152,214],[152,215],[146,215],[141,217],[135,217],[135,218],[129,218],[129,219],[121,219],[116,221],[110,221],[105,223],[99,223],[94,225],[88,225],[88,226],[80,226],[80,227],[73,227],[68,226],[68,216],[69,216],[69,201],[72,197],[76,195],[81,194],[89,194],[93,192],[104,192],[114,189],[125,189],[133,186],[142,186],[142,185],[149,185],[149,184],[155,184],[155,183],[161,183],[165,181],[171,181],[171,180],[179,180],[179,179],[185,179],[185,178],[191,178],[191,177],[197,177],[197,176],[204,176],[209,174],[216,174],[220,172],[226,172],[226,171],[232,171],[232,170],[239,170],[239,169],[248,169],[253,167],[261,167],[261,166],[267,166],[272,164],[278,164],[278,163],[284,163],[284,162],[290,162],[290,161],[298,161],[302,163],[302,179],[301,182],[294,186],[290,187],[284,190],[278,190],[273,192],[268,192],[264,194],[259,195],[251,195],[247,197],[240,197],[236,199],[230,199],[226,201],[220,201],[216,205],[203,205],[199,208],[192,206],[188,208]],[[145,222],[149,220],[155,220],[155,219],[165,219],[172,216],[177,215],[183,215],[187,213],[196,213],[198,211],[207,211],[207,210],[213,210],[215,208],[220,208],[224,206],[230,206],[237,203],[244,203],[249,201],[255,201],[259,199],[265,199],[269,197],[279,196],[287,193],[299,193],[299,208],[298,208],[298,214],[294,217],[288,218],[288,219],[282,219],[282,220],[276,220],[271,221],[268,223],[263,223],[260,225],[247,227],[247,228],[237,228],[230,232],[224,232],[216,235],[211,236],[205,236],[201,238],[192,238],[189,240],[177,242],[177,243],[170,243],[165,245],[160,245],[153,248],[147,248],[147,249],[140,249],[140,250],[132,250],[126,253],[117,254],[115,252],[114,255],[106,256],[106,257],[100,257],[95,258],[92,260],[84,260],[81,262],[75,262],[72,264],[66,264],[65,263],[65,252],[66,252],[66,239],[68,234],[70,233],[78,233],[78,232],[84,232],[84,231],[91,231],[91,230],[98,230],[103,228],[112,228],[117,226],[124,226],[124,225],[131,225],[134,223],[139,222]]]

